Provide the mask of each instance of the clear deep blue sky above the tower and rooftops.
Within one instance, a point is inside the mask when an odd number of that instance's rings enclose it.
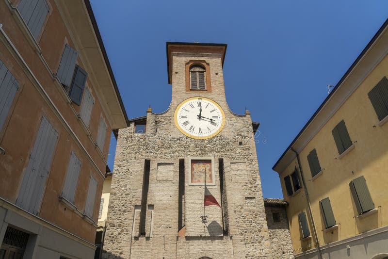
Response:
[[[228,44],[226,100],[260,122],[264,197],[272,166],[388,17],[387,0],[91,0],[129,118],[165,111],[166,41]],[[263,141],[264,140],[264,141]],[[263,142],[266,142],[263,144]],[[113,169],[115,140],[108,164]]]

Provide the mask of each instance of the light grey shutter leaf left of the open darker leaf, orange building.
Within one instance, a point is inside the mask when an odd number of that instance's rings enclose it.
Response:
[[[57,71],[57,77],[59,81],[65,85],[66,92],[69,90],[71,80],[73,79],[77,57],[78,52],[66,44],[64,53],[62,54],[61,63],[59,64]]]

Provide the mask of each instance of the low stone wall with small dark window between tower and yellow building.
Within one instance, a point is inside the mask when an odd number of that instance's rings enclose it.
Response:
[[[280,222],[274,222],[273,213],[280,214]],[[274,259],[294,258],[289,223],[284,206],[265,205],[265,214],[272,244]]]

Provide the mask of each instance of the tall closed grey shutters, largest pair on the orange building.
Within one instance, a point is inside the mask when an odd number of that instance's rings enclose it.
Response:
[[[58,132],[43,116],[16,200],[17,206],[35,215],[39,212],[57,141]]]

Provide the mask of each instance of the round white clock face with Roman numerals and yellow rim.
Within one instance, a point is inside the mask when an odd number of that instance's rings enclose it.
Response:
[[[211,138],[222,130],[224,124],[224,111],[209,98],[186,99],[175,110],[175,125],[180,132],[194,139]]]

